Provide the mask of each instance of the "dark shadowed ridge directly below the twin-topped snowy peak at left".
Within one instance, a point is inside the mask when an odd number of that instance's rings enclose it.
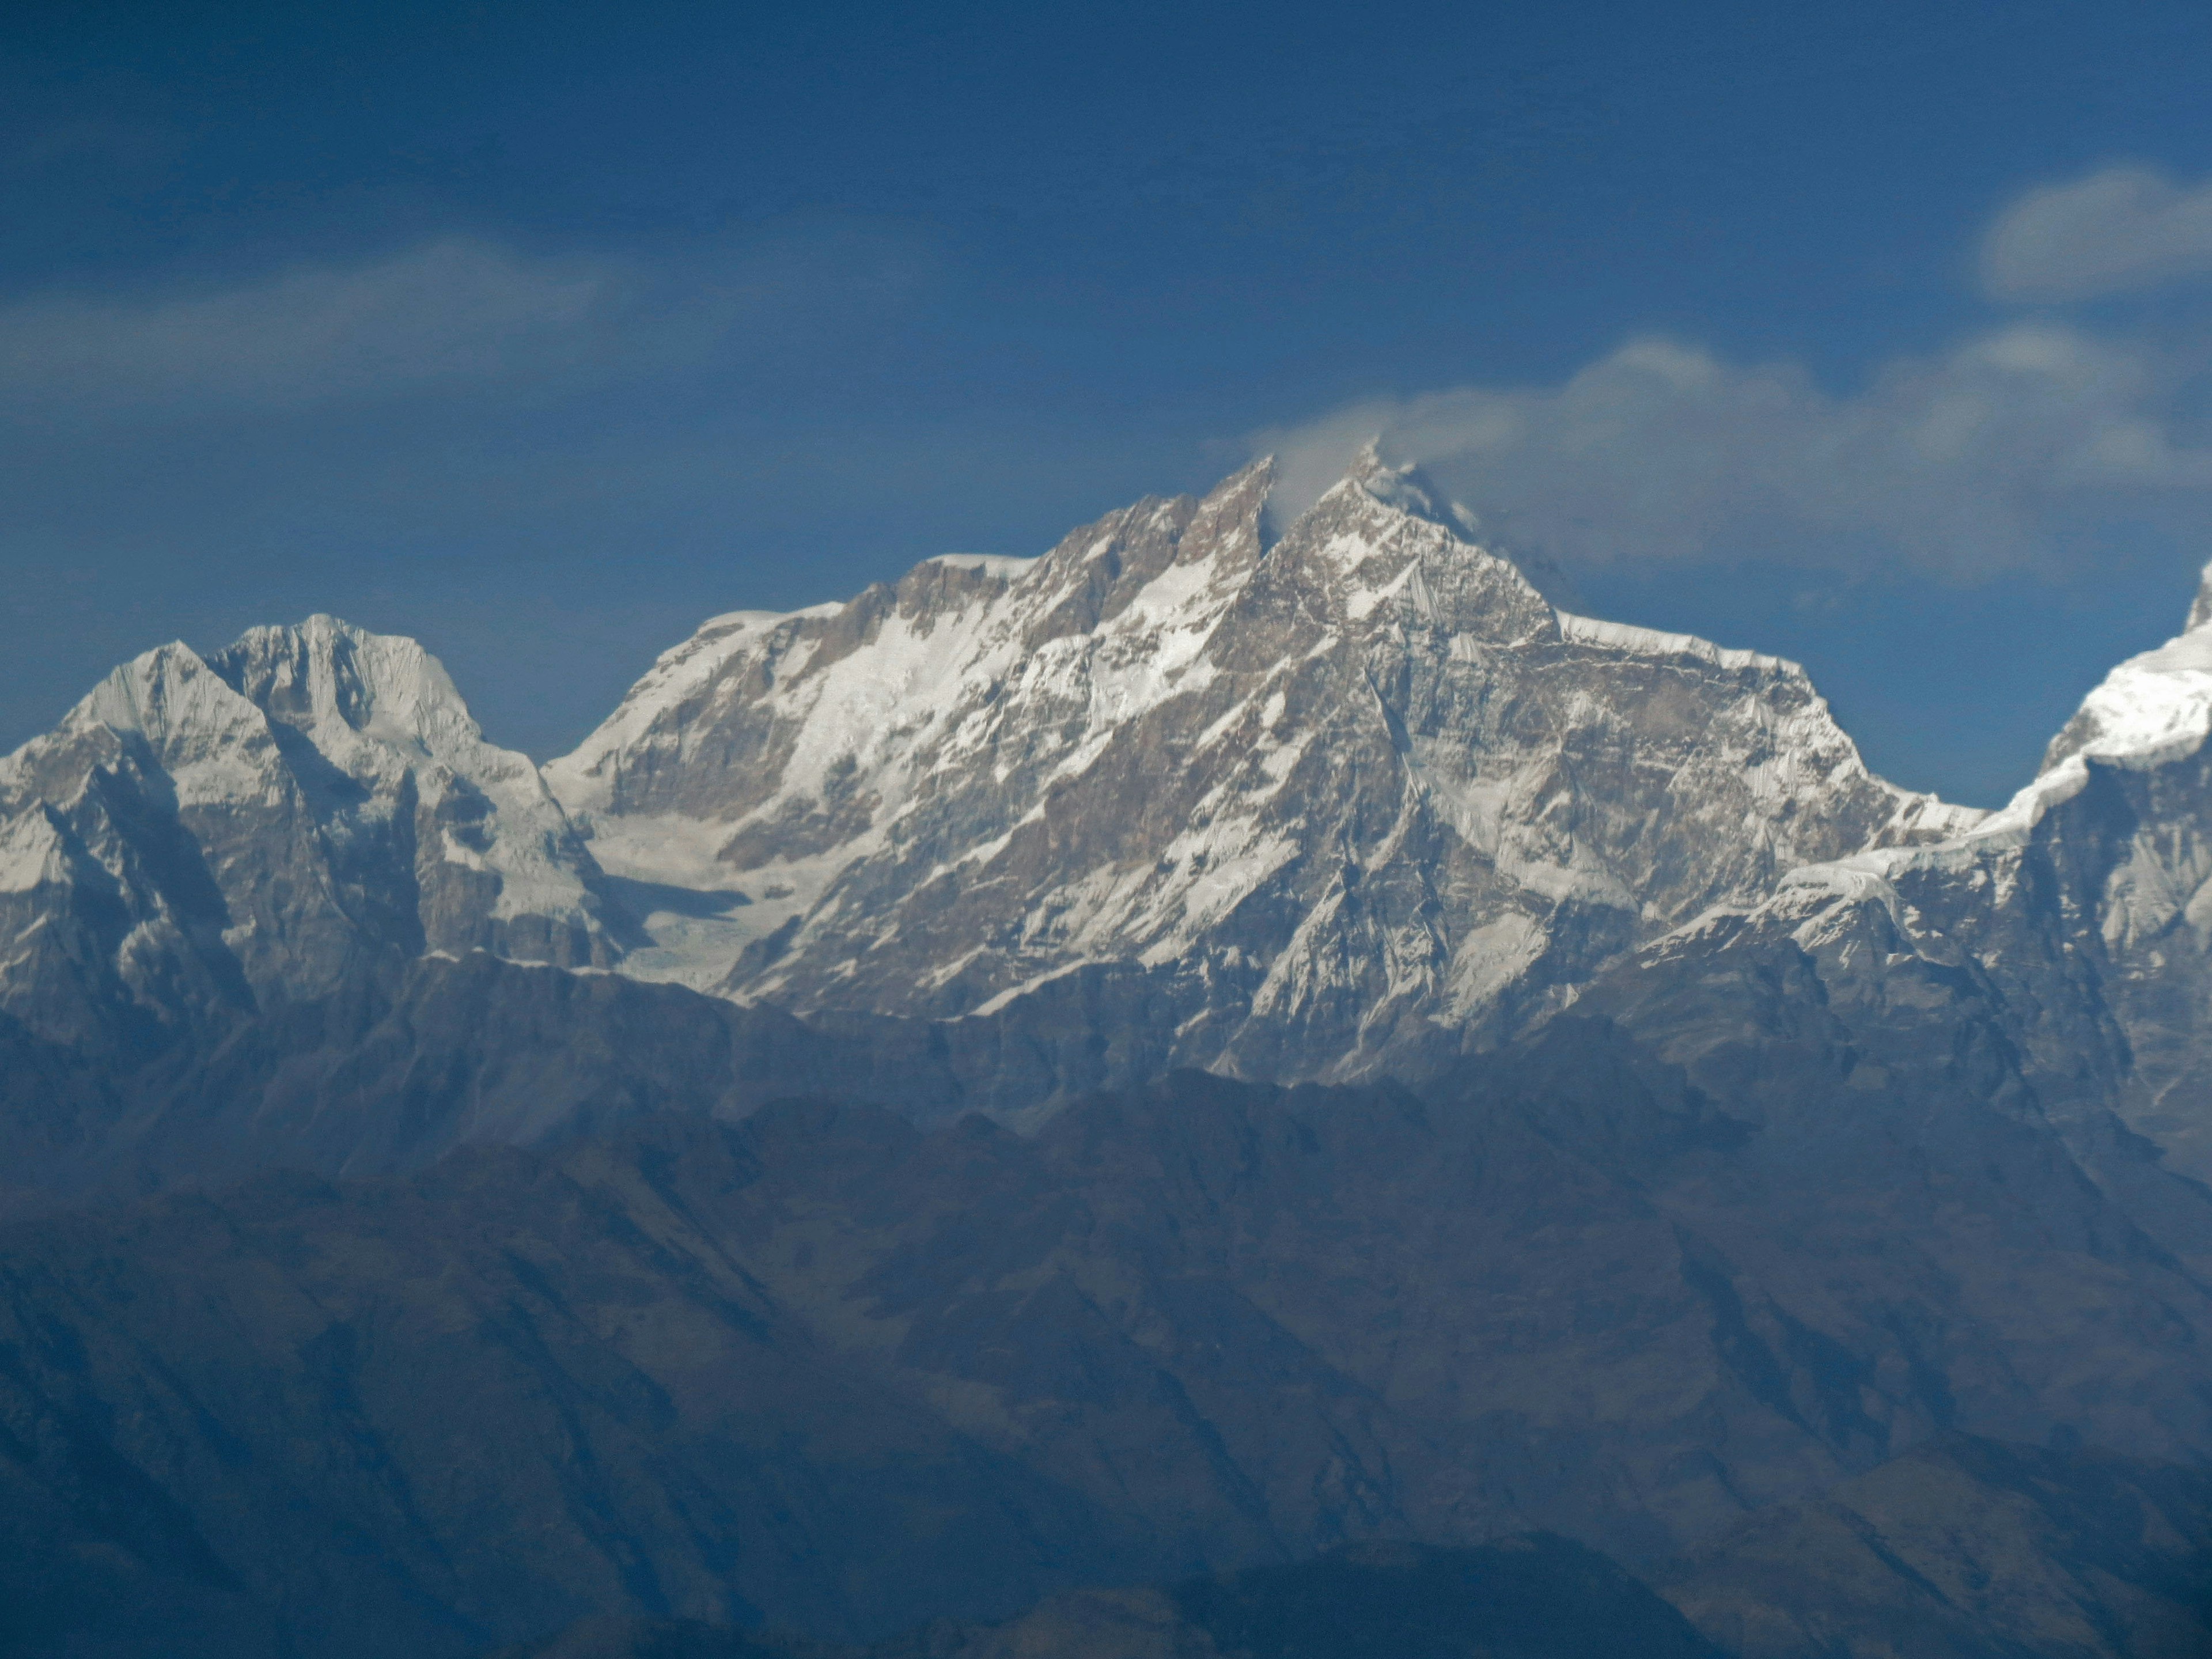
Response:
[[[993,1020],[801,1022],[672,984],[489,953],[389,958],[325,998],[84,1051],[0,1013],[0,1214],[254,1170],[396,1175],[641,1115],[834,1095],[942,1124],[1150,1075],[1155,1024],[1099,1042],[1082,975]]]

